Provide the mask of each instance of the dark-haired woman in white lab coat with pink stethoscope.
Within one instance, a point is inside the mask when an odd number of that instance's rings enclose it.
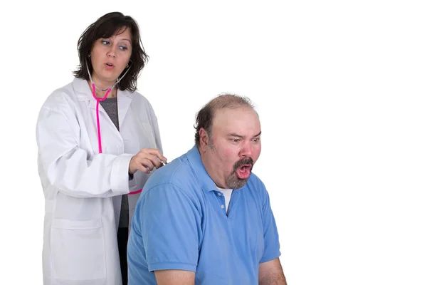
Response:
[[[135,92],[147,54],[137,23],[115,12],[78,41],[75,79],[39,113],[38,170],[46,199],[44,284],[127,284],[127,232],[150,171],[162,166],[159,128]]]

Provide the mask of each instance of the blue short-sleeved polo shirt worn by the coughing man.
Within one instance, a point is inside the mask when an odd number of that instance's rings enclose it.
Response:
[[[157,284],[155,270],[196,272],[195,284],[258,284],[260,263],[280,257],[278,230],[263,182],[251,174],[225,199],[189,152],[153,173],[132,218],[129,285]]]

